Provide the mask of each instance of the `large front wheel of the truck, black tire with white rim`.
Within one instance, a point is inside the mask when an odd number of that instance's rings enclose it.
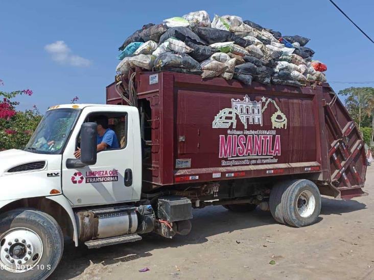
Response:
[[[0,279],[44,280],[63,252],[63,234],[56,220],[34,209],[0,215]]]

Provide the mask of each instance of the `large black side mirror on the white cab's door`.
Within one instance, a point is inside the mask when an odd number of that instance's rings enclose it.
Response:
[[[96,164],[97,159],[97,127],[95,122],[86,122],[81,128],[81,162],[85,165]]]

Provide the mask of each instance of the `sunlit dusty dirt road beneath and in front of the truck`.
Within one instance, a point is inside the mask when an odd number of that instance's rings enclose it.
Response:
[[[318,223],[308,227],[217,206],[194,211],[187,237],[150,235],[92,250],[68,245],[50,278],[374,279],[374,166],[365,190],[369,196],[353,200],[323,198]]]

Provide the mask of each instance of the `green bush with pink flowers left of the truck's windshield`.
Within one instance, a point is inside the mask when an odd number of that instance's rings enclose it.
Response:
[[[0,80],[0,86],[3,85],[3,80]],[[25,112],[17,111],[15,107],[19,103],[13,100],[18,95],[31,96],[32,94],[33,91],[30,89],[12,92],[0,90],[0,151],[25,147],[36,129],[41,119],[36,106]]]

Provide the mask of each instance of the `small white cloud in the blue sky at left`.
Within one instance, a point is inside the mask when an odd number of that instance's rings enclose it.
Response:
[[[64,41],[56,41],[45,45],[44,49],[51,55],[54,61],[60,64],[67,64],[75,67],[88,67],[91,65],[90,60],[74,55]]]

